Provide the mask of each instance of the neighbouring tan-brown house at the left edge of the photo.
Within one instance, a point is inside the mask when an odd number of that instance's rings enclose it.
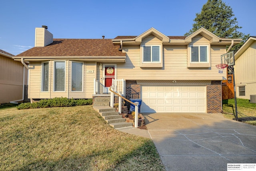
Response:
[[[24,101],[26,95],[28,70],[21,62],[14,61],[13,57],[0,50],[0,104]]]

